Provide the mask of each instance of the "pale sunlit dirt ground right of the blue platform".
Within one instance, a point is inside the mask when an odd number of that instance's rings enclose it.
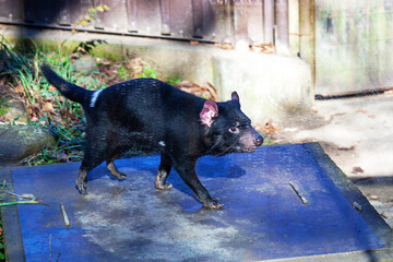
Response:
[[[393,227],[393,94],[317,100],[276,127],[275,143],[319,142]]]

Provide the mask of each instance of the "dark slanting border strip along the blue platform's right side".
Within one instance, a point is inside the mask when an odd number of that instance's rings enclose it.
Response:
[[[353,205],[357,202],[361,206],[359,215],[367,222],[374,234],[386,245],[389,260],[393,261],[393,230],[386,222],[378,214],[361,191],[349,180],[343,170],[330,158],[319,143],[305,143],[302,147],[312,156],[318,166],[340,189],[345,199]],[[386,249],[384,249],[386,251]],[[364,253],[373,254],[376,251],[365,251]],[[382,259],[382,258],[381,258]],[[385,261],[384,259],[382,259]]]

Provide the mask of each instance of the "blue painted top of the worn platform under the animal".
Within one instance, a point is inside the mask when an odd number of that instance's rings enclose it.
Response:
[[[301,145],[202,157],[196,172],[222,211],[201,209],[174,170],[174,189],[155,190],[159,156],[116,164],[127,179],[102,165],[90,176],[88,196],[74,188],[79,164],[12,170],[15,193],[51,205],[19,206],[27,261],[49,260],[50,235],[55,261],[59,253],[60,261],[243,261],[385,248]]]

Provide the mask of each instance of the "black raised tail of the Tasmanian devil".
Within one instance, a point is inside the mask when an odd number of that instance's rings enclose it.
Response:
[[[50,84],[52,84],[60,93],[70,100],[87,104],[92,97],[93,92],[82,88],[75,84],[71,84],[60,78],[55,71],[46,63],[40,67],[41,72]]]

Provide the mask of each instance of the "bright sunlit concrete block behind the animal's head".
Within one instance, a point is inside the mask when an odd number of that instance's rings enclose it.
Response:
[[[219,52],[213,58],[214,84],[224,99],[237,91],[246,115],[264,123],[310,111],[311,71],[296,57],[252,52]]]

